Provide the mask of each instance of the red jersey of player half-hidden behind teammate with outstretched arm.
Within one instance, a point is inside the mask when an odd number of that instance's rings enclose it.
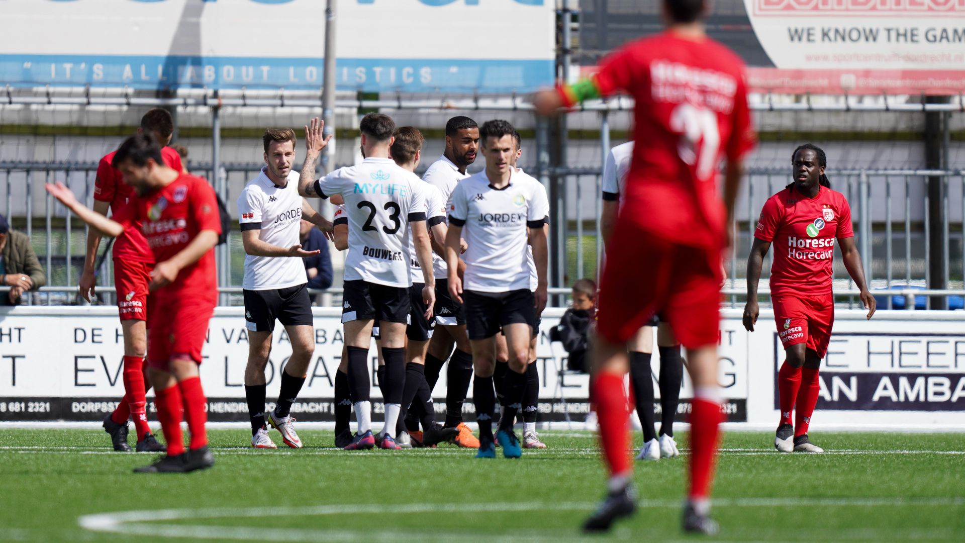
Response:
[[[134,196],[134,189],[124,184],[124,176],[121,170],[111,165],[117,151],[108,153],[97,164],[97,178],[94,184],[94,199],[101,202],[110,202],[111,215],[117,216],[121,209],[130,204],[130,198]],[[180,155],[174,149],[165,147],[161,149],[161,157],[169,167],[181,171]],[[154,262],[151,249],[141,234],[140,225],[135,224],[133,228],[124,230],[124,234],[118,236],[114,242],[114,258],[124,258],[136,262]]]

